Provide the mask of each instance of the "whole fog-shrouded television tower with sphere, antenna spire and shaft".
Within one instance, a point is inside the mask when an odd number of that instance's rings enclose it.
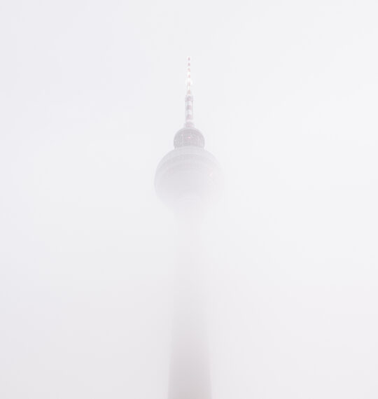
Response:
[[[218,195],[221,172],[193,122],[190,74],[188,58],[185,123],[174,136],[174,150],[162,158],[155,175],[158,197],[174,210],[178,224],[169,399],[211,398],[200,226],[204,211]]]

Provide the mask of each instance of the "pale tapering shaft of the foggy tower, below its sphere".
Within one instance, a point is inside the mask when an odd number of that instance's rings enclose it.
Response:
[[[190,207],[193,211],[193,204]],[[182,212],[182,211],[181,211]],[[169,399],[210,399],[200,220],[180,214]]]

